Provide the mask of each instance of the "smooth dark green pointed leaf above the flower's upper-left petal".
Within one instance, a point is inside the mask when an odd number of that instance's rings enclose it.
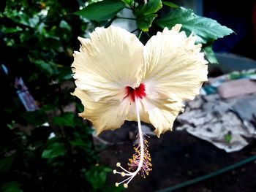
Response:
[[[124,7],[125,4],[121,0],[104,0],[89,4],[89,6],[75,12],[75,14],[89,20],[101,21],[113,18]]]

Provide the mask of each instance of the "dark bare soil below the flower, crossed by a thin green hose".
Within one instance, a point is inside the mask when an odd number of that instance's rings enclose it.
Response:
[[[133,142],[136,135],[136,124],[126,122],[116,131],[105,131],[100,135],[110,142],[100,152],[102,164],[116,169],[116,162],[127,167],[128,159],[132,157]],[[136,176],[127,188],[129,191],[158,191],[178,183],[192,180],[230,166],[256,154],[256,141],[243,150],[226,153],[211,143],[197,139],[186,131],[169,131],[160,138],[148,139],[148,150],[151,153],[153,170],[146,179]],[[116,183],[124,177],[109,174],[108,183]],[[187,188],[177,191],[187,192],[253,192],[256,191],[256,162],[240,166],[232,171],[211,177]]]

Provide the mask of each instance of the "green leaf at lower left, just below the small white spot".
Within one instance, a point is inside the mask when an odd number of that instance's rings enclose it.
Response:
[[[60,142],[48,142],[47,147],[42,151],[42,158],[56,158],[65,155],[65,153],[65,147]]]

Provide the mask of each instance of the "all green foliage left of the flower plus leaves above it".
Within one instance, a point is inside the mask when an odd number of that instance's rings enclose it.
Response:
[[[217,63],[214,40],[233,32],[169,1],[1,1],[1,191],[123,191],[106,186],[111,169],[100,164],[91,126],[77,115],[83,107],[70,96],[77,37],[110,26],[122,9],[133,13],[128,19],[135,20],[142,42],[183,24],[212,63]],[[15,77],[23,78],[39,110],[26,112]]]

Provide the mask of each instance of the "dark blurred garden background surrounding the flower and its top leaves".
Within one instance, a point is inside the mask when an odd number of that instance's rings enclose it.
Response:
[[[132,156],[136,123],[95,137],[70,95],[77,38],[108,25],[73,14],[93,2],[0,2],[0,191],[124,191],[111,172]],[[209,64],[209,81],[186,103],[174,131],[158,139],[143,125],[153,171],[145,180],[135,177],[126,191],[255,191],[256,3],[172,2],[236,34],[214,42],[219,64]],[[113,25],[136,29],[135,20]],[[152,26],[148,34],[160,30]],[[184,183],[195,178],[200,182]]]

